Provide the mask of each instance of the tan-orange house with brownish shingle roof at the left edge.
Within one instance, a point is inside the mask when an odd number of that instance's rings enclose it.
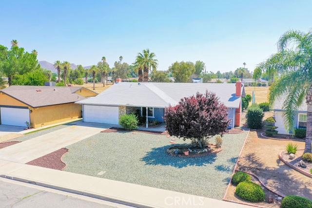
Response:
[[[38,128],[80,118],[75,102],[96,95],[84,87],[11,86],[0,91],[0,123]]]

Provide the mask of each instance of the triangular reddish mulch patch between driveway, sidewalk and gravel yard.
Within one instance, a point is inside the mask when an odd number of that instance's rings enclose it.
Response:
[[[35,160],[32,160],[27,165],[39,166],[43,168],[50,168],[55,170],[63,170],[66,164],[62,161],[62,156],[67,153],[68,150],[65,148],[46,154]]]

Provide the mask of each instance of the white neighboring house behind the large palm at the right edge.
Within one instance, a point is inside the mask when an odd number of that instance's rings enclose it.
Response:
[[[283,117],[283,103],[285,98],[281,97],[280,99],[276,100],[273,106],[274,117],[275,117],[275,126],[278,128],[276,129],[278,133],[282,134],[292,134],[293,132],[289,132],[285,128],[285,120]],[[298,111],[294,112],[293,114],[293,128],[294,129],[305,129],[307,127],[307,104],[303,101],[302,105],[298,108]]]

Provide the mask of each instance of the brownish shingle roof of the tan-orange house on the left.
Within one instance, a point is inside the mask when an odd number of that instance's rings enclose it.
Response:
[[[30,107],[37,108],[83,100],[85,97],[75,93],[81,88],[82,87],[10,86],[0,92],[14,97]]]

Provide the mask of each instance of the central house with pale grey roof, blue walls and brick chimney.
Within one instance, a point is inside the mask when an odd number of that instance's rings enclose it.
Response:
[[[123,114],[140,111],[149,121],[164,122],[164,109],[176,105],[181,98],[206,90],[215,93],[228,108],[231,126],[240,125],[241,97],[244,93],[241,82],[234,84],[211,83],[130,83],[114,84],[96,97],[76,103],[82,105],[85,122],[118,124]],[[147,126],[148,127],[148,126]]]

